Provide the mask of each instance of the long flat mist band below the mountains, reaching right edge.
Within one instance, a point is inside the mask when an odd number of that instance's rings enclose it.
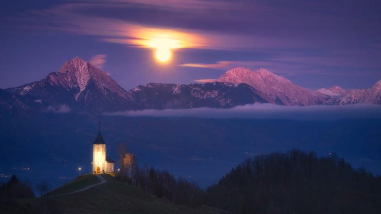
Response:
[[[295,119],[331,121],[343,118],[381,118],[381,105],[281,106],[254,103],[230,109],[193,108],[108,113],[119,116]]]

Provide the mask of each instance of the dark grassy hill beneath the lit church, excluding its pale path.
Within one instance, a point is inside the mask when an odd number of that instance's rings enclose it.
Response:
[[[62,196],[17,199],[0,203],[3,214],[219,214],[220,210],[208,206],[190,207],[173,205],[143,190],[128,186],[105,176],[108,182],[82,192]],[[50,194],[78,190],[96,182],[96,176],[86,175],[71,181]]]

